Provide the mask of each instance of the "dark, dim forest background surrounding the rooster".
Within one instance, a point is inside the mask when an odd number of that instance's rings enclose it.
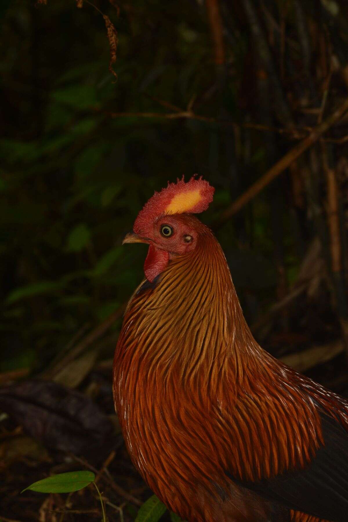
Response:
[[[100,519],[92,489],[19,495],[76,469],[134,520],[111,368],[146,248],[121,243],[168,180],[215,187],[263,348],[348,395],[348,6],[3,0],[0,24],[0,520]]]

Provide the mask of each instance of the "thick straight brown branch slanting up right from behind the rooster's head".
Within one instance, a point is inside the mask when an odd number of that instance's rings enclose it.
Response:
[[[340,118],[344,115],[344,113],[348,110],[348,98],[342,103],[342,105],[335,110],[323,123],[318,125],[313,132],[309,134],[306,138],[304,138],[299,144],[297,144],[294,148],[292,148],[289,152],[285,154],[273,167],[271,167],[266,174],[264,174],[254,185],[251,185],[241,196],[239,196],[232,205],[230,205],[226,210],[222,213],[222,215],[217,219],[214,223],[214,226],[220,225],[227,220],[231,216],[233,216],[236,212],[241,210],[251,199],[253,199],[263,188],[265,188],[271,181],[274,180],[275,177],[279,176],[285,169],[289,167],[289,165],[297,159],[302,153],[307,150],[311,145],[316,143],[316,141],[322,136],[324,133],[328,131],[328,129]]]

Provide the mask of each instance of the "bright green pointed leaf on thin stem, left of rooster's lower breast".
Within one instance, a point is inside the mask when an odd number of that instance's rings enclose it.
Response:
[[[85,488],[93,482],[94,473],[92,471],[70,471],[59,473],[46,479],[34,482],[23,491],[31,490],[39,493],[70,493]],[[22,493],[23,493],[22,491]]]

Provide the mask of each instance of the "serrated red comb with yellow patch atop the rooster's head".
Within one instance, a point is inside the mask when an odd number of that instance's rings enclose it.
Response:
[[[161,192],[155,192],[148,200],[142,210],[140,210],[134,223],[133,230],[139,233],[146,229],[149,222],[152,222],[162,214],[190,213],[198,214],[207,210],[209,203],[213,200],[214,187],[208,181],[198,180],[194,176],[185,183],[184,176],[176,183],[169,183]]]

